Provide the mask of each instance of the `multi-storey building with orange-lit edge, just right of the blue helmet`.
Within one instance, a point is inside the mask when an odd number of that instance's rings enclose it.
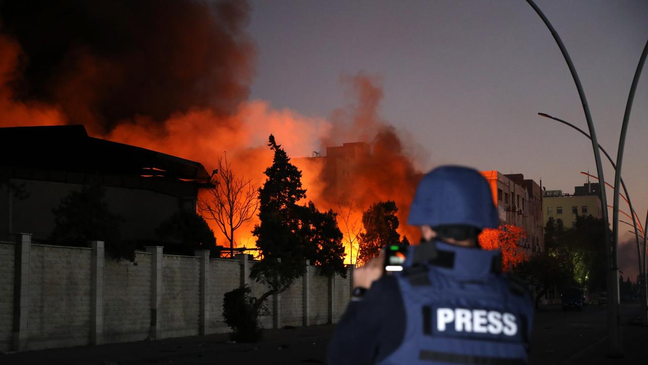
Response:
[[[544,219],[542,189],[521,173],[505,175],[500,171],[481,171],[491,185],[493,201],[501,224],[520,227],[526,239],[520,242],[525,251],[544,251]]]

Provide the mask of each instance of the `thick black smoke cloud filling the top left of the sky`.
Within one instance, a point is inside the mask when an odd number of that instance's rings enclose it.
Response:
[[[249,12],[229,0],[0,0],[0,32],[21,49],[9,86],[100,133],[193,108],[227,116],[249,94]]]

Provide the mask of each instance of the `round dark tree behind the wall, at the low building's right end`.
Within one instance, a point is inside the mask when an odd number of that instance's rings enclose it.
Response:
[[[194,250],[209,249],[210,256],[220,256],[220,247],[216,246],[214,231],[196,212],[184,209],[174,212],[160,223],[156,234],[166,241],[164,246],[167,253],[192,256]]]

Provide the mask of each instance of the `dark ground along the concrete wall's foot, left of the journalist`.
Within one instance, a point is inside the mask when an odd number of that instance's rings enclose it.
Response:
[[[233,344],[229,334],[165,338],[101,346],[0,355],[3,365],[318,364],[334,325],[268,329],[255,344]]]

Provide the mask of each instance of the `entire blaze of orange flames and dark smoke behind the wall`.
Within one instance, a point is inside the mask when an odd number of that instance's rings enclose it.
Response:
[[[377,77],[344,76],[353,102],[328,118],[277,110],[248,99],[255,51],[245,32],[246,3],[161,1],[165,6],[129,3],[127,12],[104,0],[83,3],[91,9],[74,14],[49,2],[29,11],[19,2],[6,7],[0,20],[12,35],[0,33],[0,126],[82,123],[91,136],[195,160],[208,171],[227,151],[235,173],[257,186],[272,162],[272,133],[303,171],[307,200],[338,212],[347,263],[357,257],[362,211],[377,201],[396,201],[399,233],[417,242],[418,231],[406,225],[418,176],[415,145],[380,117]],[[77,13],[97,18],[69,18]],[[44,32],[40,16],[66,26]],[[113,38],[107,44],[87,34]],[[52,45],[53,55],[38,51]],[[343,179],[329,173],[333,158],[303,158],[346,142],[362,142],[369,153]],[[256,223],[255,216],[238,229],[239,247],[254,246]]]

